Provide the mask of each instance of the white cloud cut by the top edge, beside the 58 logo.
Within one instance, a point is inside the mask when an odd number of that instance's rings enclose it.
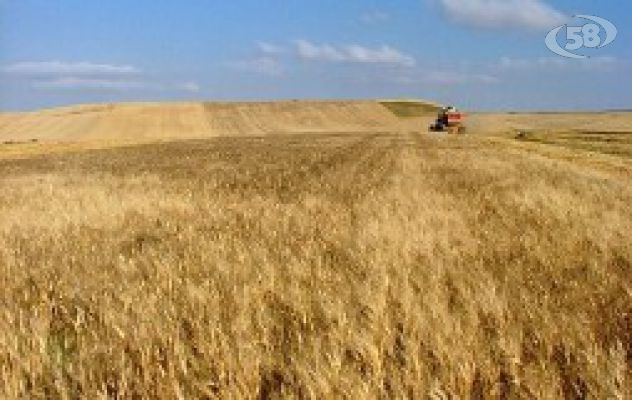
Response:
[[[438,0],[457,23],[483,29],[550,30],[566,17],[543,0]]]

